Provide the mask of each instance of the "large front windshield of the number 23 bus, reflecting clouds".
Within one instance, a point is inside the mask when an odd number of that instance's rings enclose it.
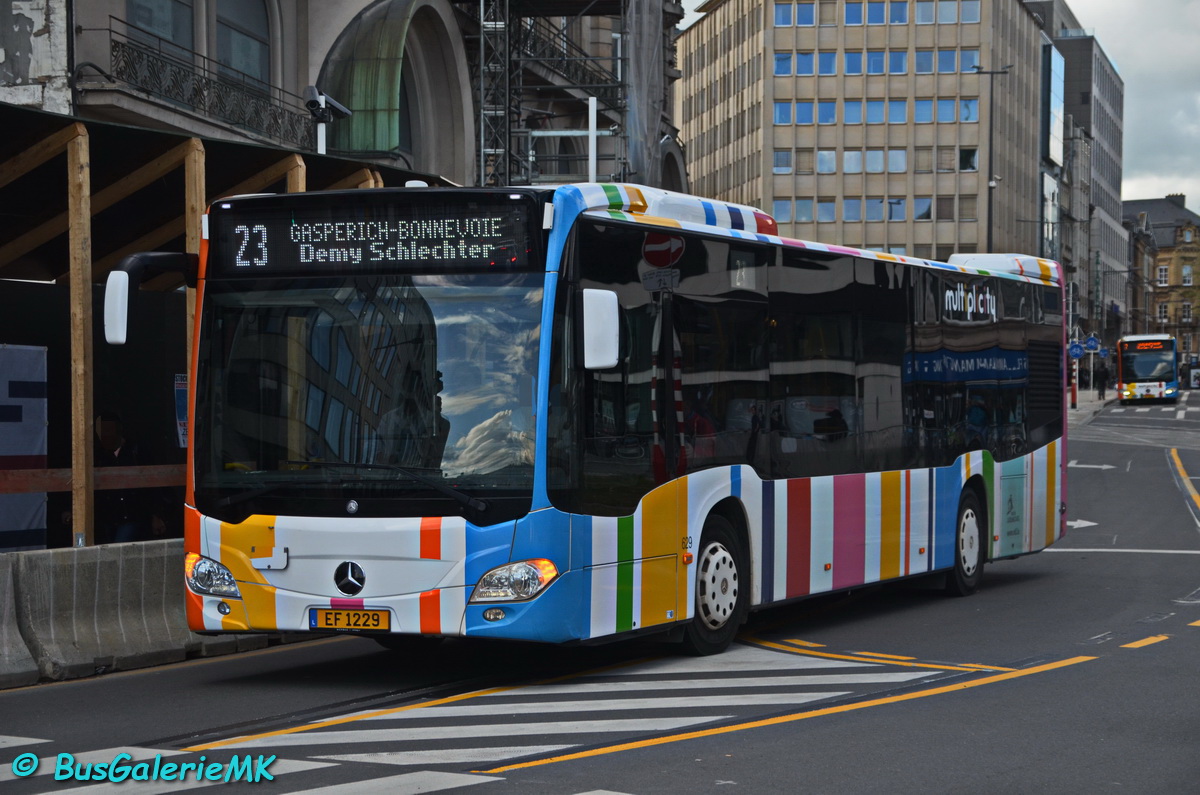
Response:
[[[528,510],[541,291],[530,273],[210,281],[197,507]]]

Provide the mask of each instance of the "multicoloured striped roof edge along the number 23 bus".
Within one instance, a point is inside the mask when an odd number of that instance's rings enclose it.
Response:
[[[757,208],[676,193],[644,185],[577,183],[559,186],[556,191],[556,203],[559,197],[574,204],[577,213],[593,217],[618,219],[660,228],[724,234],[742,240],[756,240],[810,251],[900,262],[967,274],[1002,276],[1046,285],[1062,283],[1062,269],[1052,259],[1016,253],[968,253],[952,255],[949,262],[937,262],[883,251],[796,240],[780,237],[775,219]]]

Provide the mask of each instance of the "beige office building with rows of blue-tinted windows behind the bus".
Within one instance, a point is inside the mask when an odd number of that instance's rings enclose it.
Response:
[[[695,192],[785,235],[1040,252],[1045,37],[1020,0],[709,0],[679,38]]]

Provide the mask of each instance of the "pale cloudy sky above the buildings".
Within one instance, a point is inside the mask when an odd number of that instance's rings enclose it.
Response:
[[[769,1],[769,0],[768,0]],[[684,0],[691,10],[701,0]],[[1200,213],[1200,0],[1070,0],[1124,80],[1121,198],[1187,196]]]

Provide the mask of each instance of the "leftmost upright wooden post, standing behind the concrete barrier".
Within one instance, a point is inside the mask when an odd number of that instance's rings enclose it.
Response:
[[[91,155],[88,131],[67,142],[71,274],[71,513],[72,546],[95,543],[91,405]]]

